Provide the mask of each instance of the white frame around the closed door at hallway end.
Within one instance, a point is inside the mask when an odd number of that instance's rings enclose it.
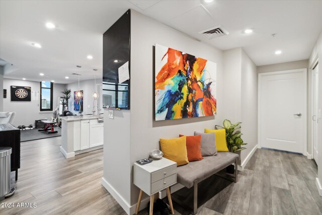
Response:
[[[291,69],[291,70],[283,70],[283,71],[271,71],[269,73],[260,73],[258,74],[258,124],[257,124],[257,141],[258,141],[258,148],[262,148],[261,143],[261,85],[262,85],[262,77],[264,76],[271,76],[271,75],[281,75],[281,74],[289,74],[294,72],[301,72],[302,78],[305,83],[305,86],[303,86],[303,92],[304,92],[304,98],[303,102],[305,105],[303,105],[303,144],[302,144],[302,154],[304,156],[307,156],[307,69],[306,68],[299,68],[299,69]]]

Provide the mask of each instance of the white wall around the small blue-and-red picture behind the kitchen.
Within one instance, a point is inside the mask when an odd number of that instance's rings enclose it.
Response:
[[[97,79],[96,84],[102,83],[102,79]],[[79,82],[79,90],[83,90],[84,97],[83,97],[83,114],[93,114],[93,93],[95,90],[95,80],[86,80],[86,81],[81,81]],[[79,114],[79,111],[74,111],[74,91],[78,91],[78,82],[67,84],[66,85],[67,89],[71,90],[71,97],[69,100],[69,111],[71,111],[73,114]],[[99,93],[99,96],[102,96],[101,93]]]

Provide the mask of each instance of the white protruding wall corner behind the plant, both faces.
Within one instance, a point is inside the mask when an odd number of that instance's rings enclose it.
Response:
[[[232,123],[242,122],[241,137],[247,149],[240,152],[240,164],[245,166],[257,146],[257,68],[242,48],[226,50],[223,56],[224,113]]]

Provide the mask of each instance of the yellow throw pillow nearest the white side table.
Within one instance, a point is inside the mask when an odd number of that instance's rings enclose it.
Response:
[[[165,158],[177,163],[177,166],[188,164],[186,136],[173,139],[160,139],[161,151]]]

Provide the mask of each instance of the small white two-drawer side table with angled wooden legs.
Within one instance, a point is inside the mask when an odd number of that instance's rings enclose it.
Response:
[[[139,211],[142,194],[145,192],[150,196],[150,215],[152,215],[154,194],[164,189],[167,189],[171,213],[174,214],[169,187],[177,183],[176,162],[166,158],[153,160],[151,163],[145,165],[140,165],[135,162],[133,164],[133,183],[140,188],[135,214]]]

